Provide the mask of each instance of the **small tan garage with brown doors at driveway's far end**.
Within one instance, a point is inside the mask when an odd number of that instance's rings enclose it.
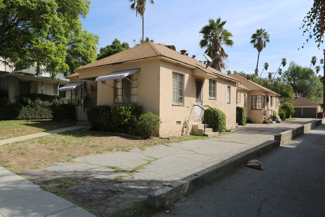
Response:
[[[320,105],[305,97],[295,97],[293,103],[294,113],[292,117],[316,118],[320,111]]]

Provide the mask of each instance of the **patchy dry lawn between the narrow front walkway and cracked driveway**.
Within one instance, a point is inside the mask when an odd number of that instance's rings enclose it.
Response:
[[[154,138],[138,140],[115,136],[105,132],[72,130],[59,134],[14,142],[0,146],[0,165],[15,172],[42,169],[56,162],[73,162],[76,157],[128,152],[134,148],[145,150],[147,147],[180,141]]]

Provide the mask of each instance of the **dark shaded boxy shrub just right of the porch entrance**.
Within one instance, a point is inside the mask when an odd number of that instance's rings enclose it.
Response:
[[[112,111],[108,105],[94,106],[90,110],[90,124],[92,130],[111,131]]]

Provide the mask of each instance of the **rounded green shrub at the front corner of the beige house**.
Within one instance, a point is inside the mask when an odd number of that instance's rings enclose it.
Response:
[[[141,139],[150,139],[157,134],[161,123],[158,115],[147,112],[140,115],[135,124],[135,128],[130,129],[129,133],[141,136]]]

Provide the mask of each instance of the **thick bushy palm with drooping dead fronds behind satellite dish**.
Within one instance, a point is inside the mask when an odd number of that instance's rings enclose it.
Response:
[[[228,58],[228,54],[223,47],[232,47],[234,45],[233,40],[230,39],[233,35],[224,28],[226,20],[221,21],[219,17],[216,20],[209,19],[208,21],[209,24],[203,26],[199,32],[203,35],[199,45],[201,48],[206,48],[204,53],[211,57],[211,59],[217,56],[212,62],[211,67],[221,71],[221,69],[226,68],[224,61]]]

